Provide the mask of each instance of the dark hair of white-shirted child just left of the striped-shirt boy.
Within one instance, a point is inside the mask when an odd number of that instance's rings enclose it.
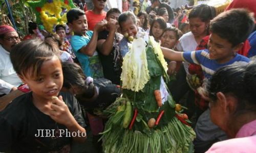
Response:
[[[206,4],[201,4],[194,7],[188,14],[188,19],[199,17],[201,21],[208,22],[216,16],[216,10],[214,7]]]

